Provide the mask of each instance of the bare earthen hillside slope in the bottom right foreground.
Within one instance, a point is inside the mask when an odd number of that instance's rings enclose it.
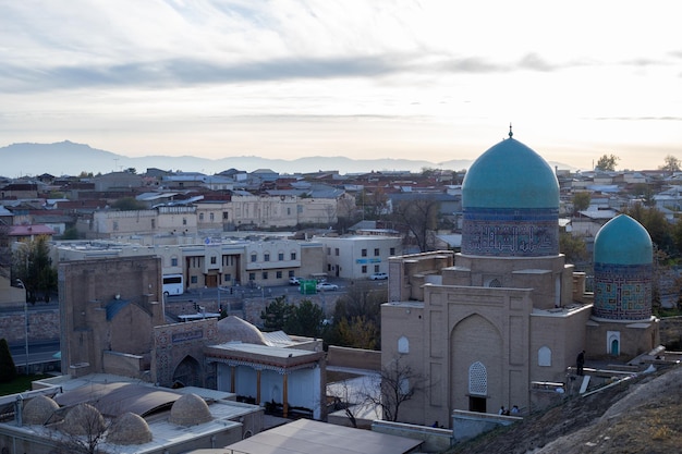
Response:
[[[682,452],[682,366],[660,369],[524,418],[449,454]]]

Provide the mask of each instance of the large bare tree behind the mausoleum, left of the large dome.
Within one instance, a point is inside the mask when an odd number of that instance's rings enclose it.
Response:
[[[433,197],[401,200],[393,206],[393,218],[405,225],[419,251],[434,249],[434,231],[438,221],[439,203]]]

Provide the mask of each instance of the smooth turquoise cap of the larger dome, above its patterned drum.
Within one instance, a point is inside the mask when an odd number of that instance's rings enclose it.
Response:
[[[462,206],[559,208],[559,182],[547,161],[508,138],[480,155],[462,183]]]

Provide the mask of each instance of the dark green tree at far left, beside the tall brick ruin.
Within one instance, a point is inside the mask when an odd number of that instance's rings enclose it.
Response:
[[[48,236],[40,235],[22,243],[12,259],[12,275],[22,280],[31,303],[35,303],[38,295],[47,300],[50,293],[57,291],[57,269],[52,267],[48,242]]]

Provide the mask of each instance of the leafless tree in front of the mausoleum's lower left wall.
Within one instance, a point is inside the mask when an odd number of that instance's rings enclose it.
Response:
[[[367,402],[381,407],[383,420],[398,421],[400,407],[427,388],[427,379],[405,364],[402,355],[397,355],[381,367],[376,388],[380,393],[364,392]]]

